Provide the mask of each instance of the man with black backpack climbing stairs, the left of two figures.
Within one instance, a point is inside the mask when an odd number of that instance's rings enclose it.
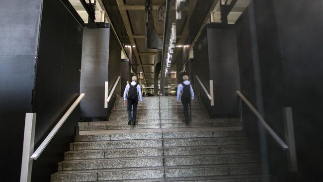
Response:
[[[143,102],[143,96],[141,93],[140,85],[137,84],[137,77],[132,77],[132,82],[127,84],[125,91],[123,92],[124,104],[127,105],[128,112],[128,125],[131,123],[136,125],[137,116],[137,105],[138,105],[138,94],[140,99],[140,104]],[[131,116],[131,110],[133,109],[133,116]]]

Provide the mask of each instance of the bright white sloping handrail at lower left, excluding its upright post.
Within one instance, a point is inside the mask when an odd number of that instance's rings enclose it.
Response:
[[[37,160],[37,158],[40,156],[40,154],[44,151],[45,147],[48,145],[48,143],[52,140],[54,135],[57,133],[57,131],[61,128],[61,126],[64,124],[66,119],[70,116],[70,114],[73,112],[75,107],[80,103],[81,99],[83,98],[85,94],[81,93],[80,96],[75,100],[75,102],[71,105],[69,110],[66,111],[66,113],[63,115],[63,117],[58,121],[58,123],[55,125],[55,127],[52,129],[52,131],[47,135],[45,140],[40,144],[40,146],[37,148],[37,150],[31,155],[30,159]]]

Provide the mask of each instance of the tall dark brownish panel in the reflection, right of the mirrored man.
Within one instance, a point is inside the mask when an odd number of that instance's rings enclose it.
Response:
[[[233,26],[207,25],[210,80],[213,80],[213,117],[238,117],[240,90],[236,30]]]

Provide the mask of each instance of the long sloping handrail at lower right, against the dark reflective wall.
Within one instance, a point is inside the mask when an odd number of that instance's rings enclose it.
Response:
[[[280,145],[283,150],[288,150],[289,147],[283,142],[283,140],[274,132],[273,129],[266,123],[266,121],[262,118],[260,113],[254,108],[254,106],[245,98],[245,96],[241,93],[241,91],[236,91],[239,97],[244,101],[244,103],[251,109],[254,115],[257,116],[262,126],[269,132],[269,134],[274,138],[274,140]]]

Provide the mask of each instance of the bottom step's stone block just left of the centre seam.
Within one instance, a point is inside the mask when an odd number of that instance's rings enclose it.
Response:
[[[163,178],[163,169],[99,172],[97,176],[98,181]]]

